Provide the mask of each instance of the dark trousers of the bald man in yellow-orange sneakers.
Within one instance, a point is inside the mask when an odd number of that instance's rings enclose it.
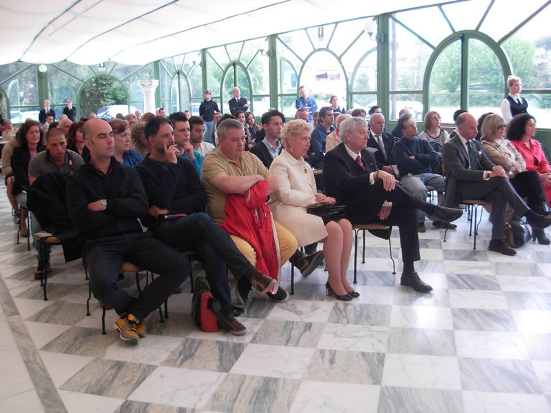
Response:
[[[118,314],[129,313],[143,320],[174,293],[189,274],[189,262],[151,233],[126,233],[90,240],[86,244],[90,285],[101,303]],[[123,262],[158,274],[138,298],[118,286]]]

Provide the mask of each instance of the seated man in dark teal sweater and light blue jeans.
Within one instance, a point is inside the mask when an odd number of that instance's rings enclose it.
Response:
[[[394,145],[392,156],[396,160],[399,171],[399,181],[402,187],[409,189],[422,200],[426,200],[427,185],[435,187],[438,193],[444,193],[446,183],[444,177],[432,173],[438,162],[433,147],[417,136],[417,125],[410,114],[400,116],[398,126],[402,131],[400,138]],[[419,232],[425,232],[425,213],[417,210],[417,225]],[[455,229],[455,224],[433,220],[433,226],[444,229]]]

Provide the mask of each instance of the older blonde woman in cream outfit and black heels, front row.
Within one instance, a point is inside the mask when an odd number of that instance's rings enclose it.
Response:
[[[269,204],[275,220],[295,235],[299,246],[324,243],[323,254],[329,273],[326,293],[350,301],[360,296],[346,279],[352,249],[352,225],[346,219],[324,224],[322,218],[306,212],[306,207],[316,202],[335,204],[335,198],[318,193],[312,169],[304,161],[312,129],[310,123],[300,119],[285,125],[281,135],[284,149],[270,167],[278,181],[278,190],[270,195]]]

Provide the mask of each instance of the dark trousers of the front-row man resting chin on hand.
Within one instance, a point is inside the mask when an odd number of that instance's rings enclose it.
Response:
[[[216,225],[206,213],[165,220],[153,230],[154,236],[178,251],[194,251],[205,266],[205,275],[214,298],[220,301],[225,317],[233,317],[231,293],[226,265],[236,279],[253,270],[231,240],[228,233]]]

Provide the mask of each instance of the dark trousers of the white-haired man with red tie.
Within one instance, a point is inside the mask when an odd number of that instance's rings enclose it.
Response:
[[[392,202],[391,215],[381,220],[379,213],[384,201]],[[414,262],[421,260],[419,255],[419,235],[417,232],[416,208],[427,204],[415,197],[412,192],[397,184],[393,191],[385,191],[382,180],[375,180],[368,191],[360,195],[360,200],[350,204],[349,219],[353,224],[378,222],[397,226],[400,233],[402,260]]]

